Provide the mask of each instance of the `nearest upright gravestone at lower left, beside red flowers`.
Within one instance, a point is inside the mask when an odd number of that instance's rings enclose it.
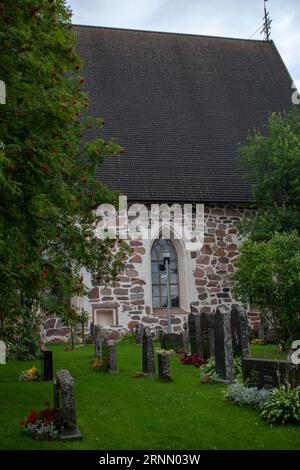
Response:
[[[54,406],[60,408],[63,419],[61,439],[78,439],[82,435],[77,427],[75,383],[67,369],[59,370],[54,382]]]

